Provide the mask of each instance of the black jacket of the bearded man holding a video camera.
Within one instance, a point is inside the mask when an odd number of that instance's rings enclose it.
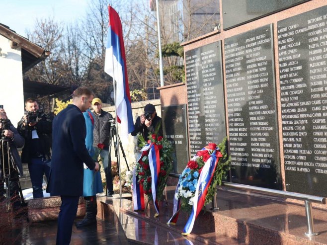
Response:
[[[47,160],[51,160],[52,153],[52,120],[53,114],[43,114],[41,120],[34,127],[27,127],[23,125],[23,121],[18,122],[18,133],[25,139],[25,145],[21,153],[21,160],[23,163],[30,163],[32,147],[32,131],[36,130],[39,137],[39,147],[37,149],[42,153]]]

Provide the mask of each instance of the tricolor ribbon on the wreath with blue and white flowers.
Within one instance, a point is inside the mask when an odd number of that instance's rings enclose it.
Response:
[[[208,150],[208,149],[203,148],[202,150]],[[221,157],[223,157],[221,152],[219,151],[218,148],[216,148],[216,150],[213,151],[213,153],[210,155],[210,158],[204,164],[202,171],[200,173],[199,179],[198,179],[198,184],[195,189],[195,197],[197,197],[197,201],[195,201],[193,204],[192,212],[186,222],[186,225],[183,229],[182,235],[186,236],[192,232],[195,219],[199,215],[199,213],[204,205],[205,198],[206,198],[206,195],[208,192],[208,188],[213,179],[219,158],[221,158]],[[198,156],[194,156],[192,158],[192,160],[196,161],[197,158],[198,158]],[[179,183],[177,184],[175,193],[178,192],[178,188],[179,188]],[[179,202],[180,202],[180,200],[176,200],[176,198],[174,198],[173,215],[170,218],[170,220],[167,222],[167,224],[176,223],[177,218],[178,218],[178,212],[179,212],[178,207],[180,206]]]

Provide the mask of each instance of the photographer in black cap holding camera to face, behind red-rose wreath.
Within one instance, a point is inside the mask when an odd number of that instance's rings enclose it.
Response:
[[[144,114],[136,119],[134,131],[131,135],[136,136],[138,133],[141,133],[147,142],[149,140],[149,133],[154,134],[158,124],[160,124],[158,136],[163,136],[162,119],[157,116],[156,107],[153,104],[147,104],[144,107]],[[138,140],[138,145],[140,143],[141,142]]]

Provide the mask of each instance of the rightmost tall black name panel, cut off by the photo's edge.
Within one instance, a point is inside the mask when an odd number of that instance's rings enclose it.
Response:
[[[327,196],[327,6],[277,31],[286,190]]]

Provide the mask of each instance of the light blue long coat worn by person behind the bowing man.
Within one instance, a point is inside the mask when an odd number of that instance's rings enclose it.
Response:
[[[89,155],[93,158],[95,155],[93,148],[93,123],[89,113],[91,114],[94,122],[94,115],[90,110],[83,112],[86,124],[85,145]],[[90,170],[89,168],[84,169],[83,196],[95,196],[96,193],[101,192],[103,192],[103,187],[100,171],[94,173],[94,170]]]

